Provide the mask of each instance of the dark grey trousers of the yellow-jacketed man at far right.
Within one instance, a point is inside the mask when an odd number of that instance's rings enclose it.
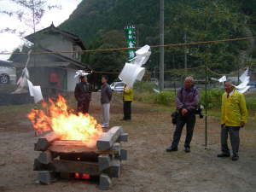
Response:
[[[238,155],[239,149],[239,130],[240,127],[222,126],[221,128],[221,150],[224,154],[230,154],[230,148],[228,146],[228,137],[230,135],[230,143],[234,155]]]

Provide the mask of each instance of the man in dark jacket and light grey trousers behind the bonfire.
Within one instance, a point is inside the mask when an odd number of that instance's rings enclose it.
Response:
[[[108,85],[108,77],[102,76],[102,127],[108,128],[109,127],[109,109],[110,109],[110,102],[112,99],[112,90]]]

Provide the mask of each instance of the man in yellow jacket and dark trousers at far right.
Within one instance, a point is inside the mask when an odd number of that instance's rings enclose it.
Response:
[[[232,146],[232,160],[238,160],[239,130],[247,123],[247,107],[243,94],[238,92],[230,80],[224,83],[225,93],[221,107],[221,149],[218,157],[230,157],[228,134]]]

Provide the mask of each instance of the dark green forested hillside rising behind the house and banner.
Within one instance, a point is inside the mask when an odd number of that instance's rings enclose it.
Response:
[[[256,26],[251,18],[254,16],[252,14],[255,9],[254,4],[245,1],[241,3],[238,0],[165,1],[165,42],[166,44],[183,43],[184,34],[187,35],[188,42],[244,37],[248,30],[253,31]],[[124,34],[125,26],[134,25],[137,27],[137,45],[154,45],[159,44],[159,20],[160,1],[84,0],[70,19],[61,24],[61,28],[79,35],[89,49],[101,49],[125,47],[124,37],[121,39],[108,32],[118,31],[119,34]],[[247,20],[253,25],[247,26]],[[103,39],[102,35],[105,33]],[[113,38],[108,41],[106,37]],[[250,45],[247,41],[191,46],[188,49],[188,67],[198,67],[202,62],[207,61],[208,67],[215,72],[228,73],[237,66],[238,53],[249,49]],[[146,65],[150,71],[157,68],[159,63],[159,49],[152,50],[150,62]],[[183,53],[184,47],[165,49],[166,69],[183,67],[184,57],[181,56]],[[101,55],[92,55],[90,57],[99,56],[100,58],[96,59],[99,61],[91,58],[85,61],[91,65],[104,67],[107,61],[108,65],[114,61],[116,54],[102,57],[107,58],[106,60],[102,59]],[[126,61],[127,56],[123,56]],[[88,58],[88,55],[85,57]],[[92,63],[94,61],[96,63]],[[116,69],[116,66],[108,69]]]

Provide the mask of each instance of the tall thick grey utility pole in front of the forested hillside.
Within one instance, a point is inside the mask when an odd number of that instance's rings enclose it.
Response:
[[[165,0],[160,0],[160,90],[165,89]]]

